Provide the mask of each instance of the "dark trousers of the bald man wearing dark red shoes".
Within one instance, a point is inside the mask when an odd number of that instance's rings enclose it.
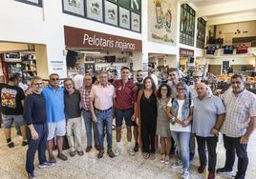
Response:
[[[218,136],[201,137],[197,135],[196,138],[198,143],[200,165],[206,166],[207,164],[207,157],[206,157],[206,150],[205,150],[205,144],[206,144],[207,150],[208,150],[208,171],[215,172],[216,161],[217,161],[216,147],[218,143]]]

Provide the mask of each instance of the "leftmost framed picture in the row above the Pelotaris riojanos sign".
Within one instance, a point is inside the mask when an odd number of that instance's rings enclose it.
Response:
[[[63,11],[84,17],[84,1],[81,0],[62,0]]]

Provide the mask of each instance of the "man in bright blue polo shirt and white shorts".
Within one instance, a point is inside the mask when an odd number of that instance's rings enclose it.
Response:
[[[46,116],[49,135],[47,138],[47,149],[49,162],[55,163],[53,156],[53,137],[57,138],[57,157],[61,160],[68,160],[62,153],[63,136],[66,133],[66,121],[64,113],[64,89],[58,86],[59,76],[56,73],[50,75],[50,86],[43,89],[43,96],[46,99]]]

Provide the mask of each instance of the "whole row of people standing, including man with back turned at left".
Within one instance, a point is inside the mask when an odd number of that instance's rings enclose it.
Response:
[[[177,157],[171,167],[182,168],[181,178],[187,179],[190,151],[193,150],[196,139],[200,158],[199,173],[203,173],[207,165],[207,148],[208,179],[215,178],[216,171],[231,172],[235,153],[238,156],[235,178],[244,179],[248,165],[246,147],[249,136],[256,127],[256,96],[245,89],[244,75],[234,74],[231,77],[230,89],[221,97],[212,95],[211,89],[201,82],[198,72],[193,73],[194,85],[189,87],[179,80],[178,70],[171,69],[168,75],[169,81],[158,87],[152,77],[143,78],[142,70],[139,70],[137,83],[134,83],[129,79],[129,68],[123,67],[121,79],[113,84],[108,82],[108,73],[101,71],[94,84],[92,76],[85,74],[83,86],[75,89],[74,81],[70,78],[65,79],[64,88],[59,87],[59,76],[53,73],[50,75],[48,87],[43,87],[42,79],[35,76],[32,79],[32,93],[26,98],[22,89],[15,85],[19,79],[11,78],[10,84],[0,86],[2,117],[8,146],[14,146],[10,129],[15,121],[22,127],[23,134],[27,131],[29,149],[26,170],[29,178],[35,178],[33,160],[36,150],[39,168],[53,167],[56,163],[53,155],[55,143],[57,158],[64,161],[68,159],[62,152],[63,136],[66,134],[71,148],[70,156],[75,156],[76,152],[78,155],[84,154],[81,115],[87,137],[85,151],[90,152],[93,149],[94,137],[94,147],[98,150],[97,158],[102,158],[106,133],[107,154],[111,158],[120,155],[123,149],[121,129],[124,119],[127,151],[131,156],[140,148],[144,159],[155,160],[156,149],[160,148],[160,162],[169,164],[171,147],[176,146]],[[10,93],[9,97],[7,92]],[[112,137],[114,118],[117,129],[115,151]],[[219,132],[224,136],[226,158],[224,168],[216,170]],[[156,137],[158,135],[160,147]],[[23,136],[23,145],[26,145],[26,135]],[[49,153],[48,160],[46,149]]]

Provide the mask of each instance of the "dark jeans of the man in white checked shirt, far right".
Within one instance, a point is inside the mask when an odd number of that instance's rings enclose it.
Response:
[[[244,179],[248,166],[247,144],[240,144],[241,137],[228,137],[224,135],[225,164],[224,168],[233,169],[235,158],[238,157],[238,171],[236,179]]]

